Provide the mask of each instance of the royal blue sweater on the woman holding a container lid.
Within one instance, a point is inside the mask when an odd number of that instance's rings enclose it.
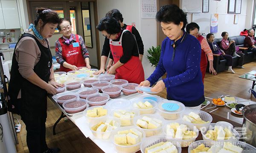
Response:
[[[188,107],[198,106],[205,100],[200,59],[201,45],[195,37],[186,32],[176,42],[167,37],[162,42],[160,61],[147,80],[152,86],[167,72],[167,78],[163,79],[167,99]]]

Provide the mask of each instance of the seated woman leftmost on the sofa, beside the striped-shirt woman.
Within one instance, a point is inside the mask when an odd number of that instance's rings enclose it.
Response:
[[[212,33],[207,34],[206,38],[207,38],[207,42],[208,42],[210,48],[212,49],[212,53],[220,55],[221,60],[223,60],[223,59],[227,60],[227,65],[228,65],[227,72],[235,73],[232,69],[232,56],[225,54],[225,52],[222,49],[220,49],[218,44],[213,42],[214,35]]]

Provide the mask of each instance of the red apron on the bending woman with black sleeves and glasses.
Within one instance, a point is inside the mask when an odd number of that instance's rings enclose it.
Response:
[[[122,32],[122,35],[125,31]],[[113,60],[116,63],[123,55],[122,35],[119,41],[109,40]],[[125,79],[129,83],[140,84],[144,81],[144,70],[139,57],[131,56],[130,60],[116,69],[116,79]]]

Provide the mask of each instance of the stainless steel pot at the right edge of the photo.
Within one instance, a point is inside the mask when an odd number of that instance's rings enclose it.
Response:
[[[256,147],[256,104],[250,104],[245,106],[244,104],[237,104],[236,110],[241,110],[243,113],[243,129],[242,129],[242,140],[248,144]]]

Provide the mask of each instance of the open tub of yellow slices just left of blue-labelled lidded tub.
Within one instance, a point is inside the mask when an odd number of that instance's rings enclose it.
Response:
[[[140,101],[143,102],[143,104],[146,101],[148,101],[153,107],[152,108],[148,108],[148,109],[141,109],[141,108],[134,107],[134,105],[138,104],[138,102],[140,102]],[[157,102],[153,101],[153,100],[150,100],[150,99],[138,98],[138,99],[133,101],[132,107],[135,110],[139,110],[140,111],[140,115],[143,115],[143,114],[154,114],[154,112],[155,112],[155,110],[157,108]]]

